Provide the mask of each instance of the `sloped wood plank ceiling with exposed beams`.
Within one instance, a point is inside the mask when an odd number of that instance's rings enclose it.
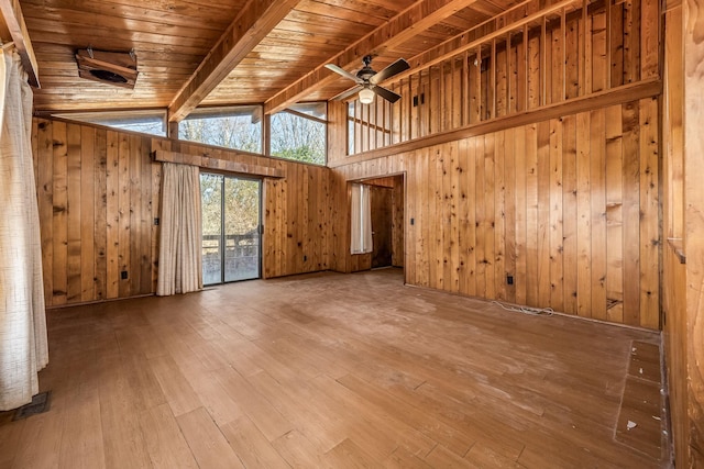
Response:
[[[2,0],[8,1],[8,0]],[[37,112],[328,100],[367,53],[380,70],[492,18],[516,0],[20,0],[38,63]],[[133,90],[78,77],[75,52],[133,51]]]

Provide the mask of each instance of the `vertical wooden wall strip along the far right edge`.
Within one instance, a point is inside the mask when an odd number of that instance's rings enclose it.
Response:
[[[663,311],[678,467],[704,466],[704,3],[666,5]]]

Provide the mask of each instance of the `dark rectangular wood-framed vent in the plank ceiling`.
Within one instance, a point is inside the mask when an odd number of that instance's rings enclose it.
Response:
[[[81,48],[76,52],[78,76],[94,81],[134,89],[136,56],[134,52],[106,52]]]

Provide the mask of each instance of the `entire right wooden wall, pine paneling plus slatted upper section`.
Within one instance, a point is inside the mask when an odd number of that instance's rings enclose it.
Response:
[[[424,53],[393,107],[331,103],[333,210],[345,181],[405,172],[407,282],[659,328],[660,5],[585,4]]]

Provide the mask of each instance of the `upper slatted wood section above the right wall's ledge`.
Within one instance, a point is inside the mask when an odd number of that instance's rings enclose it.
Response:
[[[413,72],[385,83],[402,96],[396,104],[351,102],[349,153],[659,77],[657,0],[602,0],[557,10],[548,3],[540,9],[541,3],[529,2],[470,31],[457,41],[458,53],[448,53],[453,44],[446,44],[410,59]],[[438,63],[438,57],[444,58]],[[428,62],[433,65],[422,65]]]

